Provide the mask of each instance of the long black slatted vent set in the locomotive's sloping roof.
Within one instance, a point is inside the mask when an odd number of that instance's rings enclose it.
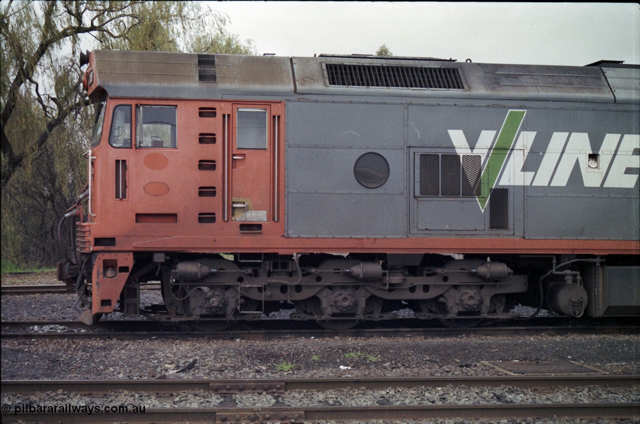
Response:
[[[455,68],[326,63],[329,85],[463,90]]]

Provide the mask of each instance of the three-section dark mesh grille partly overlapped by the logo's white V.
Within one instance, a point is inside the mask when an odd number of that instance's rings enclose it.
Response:
[[[477,154],[420,154],[420,196],[479,197],[482,158]]]

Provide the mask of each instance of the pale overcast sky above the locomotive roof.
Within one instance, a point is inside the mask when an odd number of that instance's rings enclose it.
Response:
[[[484,63],[640,63],[636,3],[216,1],[258,54],[373,54]]]

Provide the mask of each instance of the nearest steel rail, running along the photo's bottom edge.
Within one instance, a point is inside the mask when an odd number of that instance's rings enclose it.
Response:
[[[25,412],[3,413],[3,423],[287,423],[325,420],[429,420],[465,418],[500,420],[505,418],[545,418],[548,416],[589,418],[630,418],[640,416],[640,403],[628,404],[483,404],[483,405],[394,405],[265,408],[154,408],[142,413]]]

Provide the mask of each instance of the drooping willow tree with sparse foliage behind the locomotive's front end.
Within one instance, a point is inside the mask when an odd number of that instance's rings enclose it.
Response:
[[[191,1],[0,0],[2,254],[51,264],[58,219],[86,181],[93,108],[81,49],[253,54]]]

